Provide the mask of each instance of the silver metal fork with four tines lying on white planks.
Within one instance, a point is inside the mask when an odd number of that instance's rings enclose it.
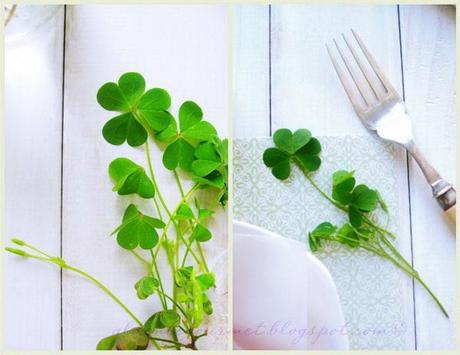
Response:
[[[406,113],[403,100],[385,77],[358,34],[353,30],[351,32],[366,60],[361,59],[363,55],[358,54],[344,34],[342,37],[348,47],[347,54],[335,39],[334,44],[346,70],[341,68],[328,45],[326,48],[353,108],[366,128],[375,131],[384,140],[397,143],[407,149],[430,184],[433,197],[455,223],[455,189],[428,163],[415,145],[411,120]],[[349,58],[350,54],[353,59]]]

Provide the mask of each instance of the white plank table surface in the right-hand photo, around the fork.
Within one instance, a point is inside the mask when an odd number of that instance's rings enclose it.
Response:
[[[233,12],[234,136],[278,128],[314,135],[368,135],[327,56],[325,43],[356,30],[404,96],[429,161],[455,181],[455,8],[452,6],[236,6]],[[453,349],[455,233],[401,150],[399,238],[408,260],[450,311],[446,319],[419,286],[405,302],[407,349]],[[399,175],[401,176],[401,175]]]

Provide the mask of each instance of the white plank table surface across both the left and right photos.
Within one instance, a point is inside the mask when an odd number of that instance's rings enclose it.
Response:
[[[95,94],[129,70],[168,89],[176,109],[203,107],[228,134],[228,51],[233,46],[233,132],[268,136],[308,126],[316,135],[368,134],[356,119],[324,43],[353,27],[369,44],[413,118],[427,158],[455,181],[455,9],[438,6],[233,7],[67,6],[28,43],[6,44],[6,236],[71,260],[146,313],[125,285],[138,274],[108,243],[122,206],[110,191],[107,164],[142,151],[113,147],[100,129],[109,117]],[[186,31],[184,31],[186,28]],[[155,156],[158,161],[159,156]],[[416,285],[407,319],[409,349],[455,346],[455,238],[420,171],[401,151],[406,177],[399,238],[406,257],[451,312],[445,319]],[[169,176],[159,177],[167,185]],[[167,193],[173,200],[175,191]],[[226,224],[214,230],[224,237]],[[5,348],[93,349],[95,339],[128,319],[93,285],[53,266],[5,258]],[[133,300],[130,302],[129,300]],[[24,336],[27,334],[27,336]]]

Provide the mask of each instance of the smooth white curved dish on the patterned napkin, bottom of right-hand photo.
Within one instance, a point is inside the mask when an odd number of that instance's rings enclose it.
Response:
[[[305,245],[233,222],[234,348],[344,350],[334,281]]]

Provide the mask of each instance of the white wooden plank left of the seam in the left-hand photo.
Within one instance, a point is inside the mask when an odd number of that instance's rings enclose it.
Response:
[[[59,255],[63,9],[54,14],[5,45],[5,244]],[[5,349],[59,349],[59,270],[9,254],[5,268]]]

